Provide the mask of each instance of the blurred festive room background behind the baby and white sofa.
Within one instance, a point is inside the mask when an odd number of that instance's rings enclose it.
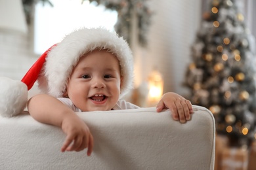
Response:
[[[253,0],[0,0],[0,76],[21,80],[45,50],[79,27],[115,30],[134,56],[128,101],[151,107],[161,93],[176,92],[207,107],[221,133],[215,168],[256,168],[250,161],[256,159],[256,73],[249,66],[256,57],[255,8]],[[37,91],[33,86],[29,97]]]

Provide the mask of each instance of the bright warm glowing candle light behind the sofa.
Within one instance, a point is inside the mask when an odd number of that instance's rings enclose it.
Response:
[[[148,106],[154,106],[163,95],[163,78],[159,71],[154,70],[148,76]]]

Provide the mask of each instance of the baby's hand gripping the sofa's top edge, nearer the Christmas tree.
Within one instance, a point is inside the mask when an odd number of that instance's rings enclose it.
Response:
[[[193,113],[192,105],[190,101],[182,97],[177,93],[165,93],[161,97],[158,105],[156,105],[156,111],[169,108],[173,113],[173,120],[179,120],[182,124],[190,120],[190,114]]]

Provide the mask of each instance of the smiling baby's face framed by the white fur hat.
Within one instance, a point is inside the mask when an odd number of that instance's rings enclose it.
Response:
[[[82,111],[111,110],[121,86],[119,61],[106,50],[94,50],[82,56],[74,67],[66,92]]]

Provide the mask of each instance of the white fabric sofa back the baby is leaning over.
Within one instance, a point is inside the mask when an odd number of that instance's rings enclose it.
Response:
[[[90,127],[93,154],[60,152],[65,134],[41,124],[28,112],[0,117],[0,169],[214,169],[215,120],[193,106],[192,120],[181,124],[167,109],[77,113]]]

